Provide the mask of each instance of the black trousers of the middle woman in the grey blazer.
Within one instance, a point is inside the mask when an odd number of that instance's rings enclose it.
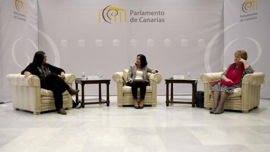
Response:
[[[141,95],[141,99],[145,99],[145,92],[146,92],[146,86],[149,85],[149,82],[132,82],[129,83],[128,86],[131,87],[131,91],[132,91],[132,96],[133,99],[137,99],[137,93],[138,93],[138,88],[140,88],[140,95]]]

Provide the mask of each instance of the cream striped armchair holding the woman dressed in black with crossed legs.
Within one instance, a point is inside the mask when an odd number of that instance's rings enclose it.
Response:
[[[40,87],[40,79],[36,75],[25,78],[21,74],[8,74],[7,80],[11,85],[12,106],[14,110],[23,109],[33,111],[35,115],[41,111],[55,110],[53,93]],[[72,87],[74,74],[65,74],[65,82]],[[72,97],[65,91],[63,93],[63,108],[71,109]]]

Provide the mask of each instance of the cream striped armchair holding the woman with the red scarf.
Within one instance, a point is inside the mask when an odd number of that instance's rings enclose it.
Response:
[[[223,68],[223,71],[225,69]],[[222,72],[202,73],[200,76],[204,84],[204,107],[206,109],[211,109],[214,105],[213,92],[210,91],[210,87],[216,81],[220,81],[221,74]],[[246,74],[242,80],[242,88],[234,89],[234,92],[227,97],[224,109],[248,113],[249,110],[258,107],[260,104],[260,85],[264,83],[264,73]]]

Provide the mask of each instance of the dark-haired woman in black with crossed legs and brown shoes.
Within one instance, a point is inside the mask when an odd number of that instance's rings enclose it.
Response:
[[[29,75],[36,75],[40,78],[41,88],[51,90],[54,96],[54,103],[57,113],[66,115],[63,109],[63,95],[66,90],[70,95],[76,95],[79,90],[70,88],[63,79],[65,71],[51,64],[46,63],[47,56],[43,51],[37,51],[34,55],[33,62],[30,63],[22,72],[25,78]],[[60,77],[58,76],[60,75]]]

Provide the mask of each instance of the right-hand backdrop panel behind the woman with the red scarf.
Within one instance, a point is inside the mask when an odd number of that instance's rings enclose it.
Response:
[[[224,66],[233,63],[233,53],[236,50],[246,50],[247,61],[255,72],[265,74],[266,84],[261,85],[260,97],[269,99],[270,21],[266,14],[270,14],[270,1],[244,2],[245,0],[224,1],[224,29],[227,29],[224,32]]]

